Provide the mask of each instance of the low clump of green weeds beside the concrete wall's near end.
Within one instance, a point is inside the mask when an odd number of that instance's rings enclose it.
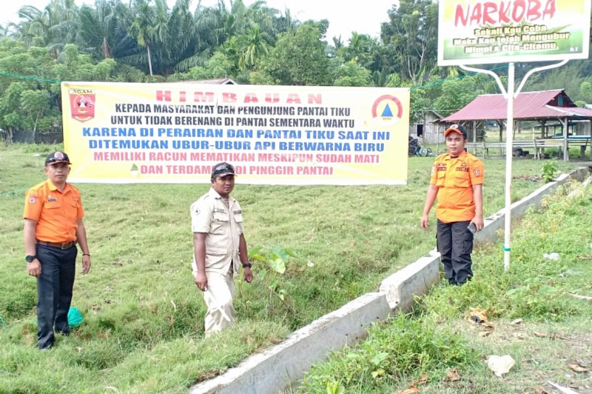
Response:
[[[388,324],[375,324],[368,340],[336,351],[329,360],[305,374],[303,392],[321,394],[327,388],[378,388],[398,379],[430,372],[439,380],[450,367],[475,363],[478,354],[458,334],[440,330],[433,320],[398,314]],[[368,391],[369,392],[369,391]]]

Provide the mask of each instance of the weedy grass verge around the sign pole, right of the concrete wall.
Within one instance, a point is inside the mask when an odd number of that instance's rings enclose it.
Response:
[[[592,187],[572,198],[569,190],[514,229],[507,274],[501,244],[477,250],[473,281],[436,285],[411,314],[375,325],[368,340],[313,367],[300,392],[555,393],[551,380],[592,393],[592,302],[571,295],[592,296],[592,230],[582,220]],[[551,252],[559,260],[543,257]],[[467,320],[471,308],[487,310],[488,324]],[[516,360],[503,378],[484,362],[493,354]]]

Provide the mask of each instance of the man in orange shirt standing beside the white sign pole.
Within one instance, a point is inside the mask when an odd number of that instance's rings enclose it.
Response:
[[[473,232],[483,228],[483,172],[480,159],[465,151],[466,131],[452,125],[445,132],[448,153],[436,158],[427,189],[421,225],[427,229],[428,214],[437,197],[437,248],[442,255],[449,284],[462,285],[472,278]]]

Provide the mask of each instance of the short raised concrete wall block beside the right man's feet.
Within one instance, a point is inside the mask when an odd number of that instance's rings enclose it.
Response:
[[[392,309],[409,310],[416,295],[422,295],[440,279],[440,253],[433,249],[382,281],[380,291],[387,295]]]

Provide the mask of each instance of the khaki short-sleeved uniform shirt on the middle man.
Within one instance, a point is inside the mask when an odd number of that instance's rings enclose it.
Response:
[[[238,201],[229,196],[229,207],[213,188],[191,205],[191,230],[208,233],[205,237],[205,271],[226,275],[233,263],[239,272],[239,237],[243,233],[243,214]],[[195,275],[194,260],[191,269]]]

